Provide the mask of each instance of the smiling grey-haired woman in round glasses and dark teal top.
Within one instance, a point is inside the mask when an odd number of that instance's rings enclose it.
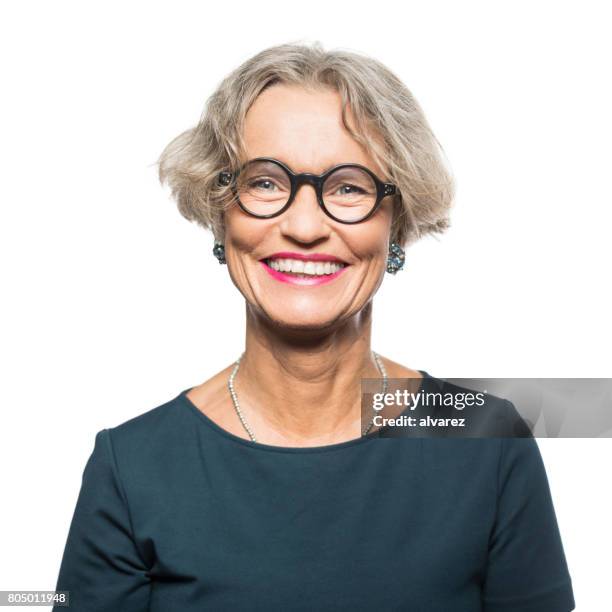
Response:
[[[214,233],[245,349],[98,432],[57,583],[73,609],[573,609],[533,438],[391,440],[362,414],[362,379],[439,380],[370,338],[385,273],[447,226],[441,151],[385,66],[318,44],[245,62],[168,145],[161,179]]]

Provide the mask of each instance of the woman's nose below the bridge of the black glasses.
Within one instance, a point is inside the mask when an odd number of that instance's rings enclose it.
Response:
[[[282,215],[280,229],[288,238],[309,244],[327,238],[331,228],[317,201],[314,185],[303,183]]]

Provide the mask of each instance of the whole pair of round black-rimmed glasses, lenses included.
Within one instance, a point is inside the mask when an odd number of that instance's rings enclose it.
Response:
[[[323,174],[295,174],[269,157],[248,161],[235,173],[220,172],[219,184],[231,185],[244,212],[270,219],[284,213],[303,184],[312,185],[323,212],[339,223],[361,223],[374,214],[396,186],[381,181],[359,164],[339,164]]]

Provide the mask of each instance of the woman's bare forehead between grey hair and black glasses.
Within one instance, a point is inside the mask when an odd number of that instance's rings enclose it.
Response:
[[[350,108],[349,125],[354,123]],[[373,158],[342,123],[342,98],[331,88],[276,84],[264,90],[244,124],[247,155],[274,157],[294,172],[322,173],[358,163],[380,173]]]

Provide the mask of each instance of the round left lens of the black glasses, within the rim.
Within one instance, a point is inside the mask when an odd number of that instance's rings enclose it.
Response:
[[[238,175],[238,198],[254,215],[272,215],[289,200],[291,182],[287,173],[269,161],[253,160]]]

